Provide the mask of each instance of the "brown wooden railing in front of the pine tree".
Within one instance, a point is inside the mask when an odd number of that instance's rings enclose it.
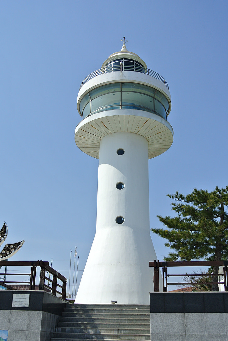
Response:
[[[228,261],[191,261],[191,262],[159,262],[159,261],[154,261],[154,262],[149,262],[149,266],[154,268],[154,291],[160,291],[159,289],[159,268],[162,267],[162,281],[163,281],[163,291],[166,292],[168,290],[168,285],[180,285],[180,284],[197,284],[197,285],[205,285],[205,284],[224,284],[225,291],[228,291]],[[170,282],[168,283],[168,277],[190,277],[190,276],[200,276],[200,274],[167,274],[167,267],[188,267],[188,266],[223,266],[223,274],[218,274],[214,276],[223,276],[224,277],[224,282],[210,282],[210,283],[199,283],[199,282]],[[202,276],[211,276],[211,274],[201,274]]]

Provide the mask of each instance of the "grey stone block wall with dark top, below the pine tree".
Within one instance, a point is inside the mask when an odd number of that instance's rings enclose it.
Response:
[[[150,293],[151,341],[228,341],[228,293]]]

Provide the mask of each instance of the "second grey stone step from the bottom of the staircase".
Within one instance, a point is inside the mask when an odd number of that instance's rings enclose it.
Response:
[[[99,328],[99,327],[57,327],[56,332],[60,333],[91,333],[91,334],[150,334],[150,326],[147,328]]]

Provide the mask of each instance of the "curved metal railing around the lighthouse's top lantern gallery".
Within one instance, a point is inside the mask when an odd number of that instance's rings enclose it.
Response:
[[[108,68],[109,68],[109,67],[108,67]],[[134,68],[134,69],[131,70],[131,67],[130,67],[130,66],[127,66],[127,68],[125,68],[125,70],[123,70],[123,72],[124,72],[124,71],[134,71],[134,72],[140,72],[140,73],[147,74],[147,75],[152,76],[152,77],[154,77],[154,78],[156,78],[156,79],[158,79],[158,80],[161,80],[162,83],[164,83],[165,86],[169,89],[169,86],[168,86],[168,84],[167,84],[167,81],[166,81],[161,75],[159,75],[157,72],[155,72],[155,71],[153,71],[153,70],[150,70],[150,69],[145,69],[145,68],[142,68],[142,70],[139,71],[139,66],[135,66],[135,67],[132,66],[132,68]],[[110,69],[110,68],[109,68],[109,69],[102,68],[102,69],[96,70],[96,71],[92,72],[90,75],[88,75],[88,76],[82,81],[79,90],[81,89],[81,87],[82,87],[84,84],[86,84],[86,83],[88,82],[88,80],[90,80],[90,79],[92,79],[92,78],[94,78],[94,77],[96,77],[96,76],[99,76],[99,75],[102,75],[102,74],[105,74],[105,73],[110,73],[110,72],[118,72],[118,71],[121,72],[119,66],[118,66],[118,68],[117,68],[117,67],[115,68],[115,67],[113,66],[113,68],[111,68],[111,69]]]

